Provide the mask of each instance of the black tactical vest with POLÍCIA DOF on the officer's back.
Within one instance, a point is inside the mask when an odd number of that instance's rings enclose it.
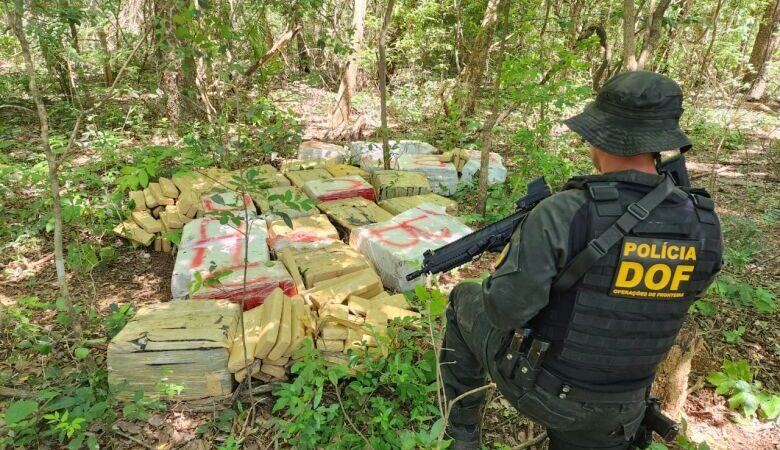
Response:
[[[574,256],[652,187],[578,177],[567,189],[582,189],[588,199],[570,234]],[[721,256],[709,195],[674,188],[573,287],[551,293],[532,321],[535,333],[552,343],[542,367],[597,392],[649,386],[691,303],[720,269]]]

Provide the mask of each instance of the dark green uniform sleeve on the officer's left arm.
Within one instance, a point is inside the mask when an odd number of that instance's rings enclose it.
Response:
[[[540,203],[515,230],[495,273],[482,283],[493,326],[521,328],[547,305],[552,281],[570,257],[573,221],[585,204],[582,191],[561,192]]]

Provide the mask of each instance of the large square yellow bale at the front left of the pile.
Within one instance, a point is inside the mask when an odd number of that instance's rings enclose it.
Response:
[[[226,301],[176,300],[141,307],[108,345],[108,383],[122,399],[159,398],[160,385],[182,386],[176,400],[229,394],[228,353],[239,323]]]

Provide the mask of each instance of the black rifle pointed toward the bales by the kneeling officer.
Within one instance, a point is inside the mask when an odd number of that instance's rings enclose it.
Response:
[[[427,250],[423,253],[422,268],[408,274],[406,280],[412,281],[422,274],[446,272],[474,260],[486,251],[500,251],[509,242],[517,224],[539,202],[551,195],[550,186],[544,177],[533,180],[528,184],[528,195],[515,202],[512,215],[436,250]]]

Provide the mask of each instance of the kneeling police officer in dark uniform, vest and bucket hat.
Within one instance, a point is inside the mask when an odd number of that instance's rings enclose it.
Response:
[[[721,266],[709,195],[658,173],[659,152],[691,148],[682,112],[673,80],[628,72],[566,120],[600,175],[575,177],[541,202],[495,273],[452,291],[441,356],[448,401],[489,374],[547,428],[551,449],[629,447],[656,367]],[[454,448],[479,447],[485,395],[452,408]]]

